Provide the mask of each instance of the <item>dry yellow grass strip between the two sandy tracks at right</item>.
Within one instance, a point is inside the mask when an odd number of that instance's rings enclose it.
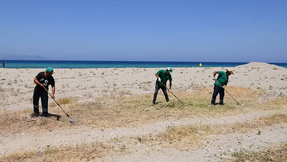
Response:
[[[230,125],[196,124],[172,126],[168,127],[164,133],[153,136],[143,136],[141,137],[141,141],[151,145],[188,150],[191,147],[201,146],[202,140],[209,139],[212,134],[230,134],[233,132],[245,133],[251,129],[276,123],[287,124],[287,115],[276,114],[268,117],[260,117],[250,122],[234,123]]]

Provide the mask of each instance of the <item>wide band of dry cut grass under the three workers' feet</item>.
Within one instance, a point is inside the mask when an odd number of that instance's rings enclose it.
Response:
[[[227,89],[227,88],[226,88]],[[31,130],[49,130],[69,128],[75,126],[92,126],[98,128],[134,127],[166,119],[178,119],[187,117],[215,117],[222,115],[235,115],[248,113],[254,110],[282,109],[286,106],[287,98],[277,98],[259,102],[259,98],[265,95],[263,90],[252,90],[242,87],[228,87],[237,103],[226,93],[224,106],[210,107],[213,88],[201,88],[193,92],[173,92],[181,103],[169,93],[170,102],[166,102],[164,95],[159,91],[156,106],[152,106],[153,94],[139,96],[113,96],[94,98],[93,102],[76,102],[74,98],[59,99],[61,107],[73,118],[75,124],[69,123],[69,119],[55,104],[49,104],[49,112],[62,117],[47,119],[30,118],[29,110],[17,112],[3,111],[0,113],[0,133],[17,133]],[[217,102],[219,96],[217,98]],[[38,119],[36,121],[31,121]],[[27,122],[29,121],[29,122]],[[9,130],[9,131],[7,131]]]

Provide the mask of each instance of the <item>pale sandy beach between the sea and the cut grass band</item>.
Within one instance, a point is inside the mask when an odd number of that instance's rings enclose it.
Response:
[[[197,85],[213,87],[213,72],[229,68],[174,68],[172,90],[181,91],[190,87],[192,91]],[[160,69],[164,68],[55,69],[55,97],[78,96],[82,100],[92,100],[96,96],[117,95],[121,92],[127,95],[153,94],[156,82],[154,74]],[[230,76],[228,86],[260,88],[270,95],[278,95],[280,92],[286,95],[286,68],[251,62],[231,69],[234,75]],[[5,89],[1,91],[1,109],[32,108],[31,98],[35,87],[33,79],[41,71],[44,69],[0,69],[0,86]]]

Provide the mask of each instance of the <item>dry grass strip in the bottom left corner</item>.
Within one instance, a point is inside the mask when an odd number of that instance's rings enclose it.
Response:
[[[1,162],[67,162],[67,161],[90,161],[93,159],[99,159],[106,156],[113,147],[109,144],[102,143],[89,143],[80,144],[76,146],[60,146],[60,147],[46,147],[37,153],[36,150],[22,152],[22,153],[11,153],[0,157]]]

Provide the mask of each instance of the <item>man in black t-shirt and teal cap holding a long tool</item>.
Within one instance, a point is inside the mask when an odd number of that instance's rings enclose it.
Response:
[[[42,103],[42,117],[48,116],[48,92],[49,85],[52,86],[52,99],[55,99],[55,80],[53,78],[53,68],[48,67],[45,71],[38,73],[38,75],[34,78],[34,83],[36,86],[34,88],[33,94],[33,105],[34,111],[30,116],[38,116],[39,115],[39,99],[41,98]],[[47,89],[47,91],[44,89]]]

